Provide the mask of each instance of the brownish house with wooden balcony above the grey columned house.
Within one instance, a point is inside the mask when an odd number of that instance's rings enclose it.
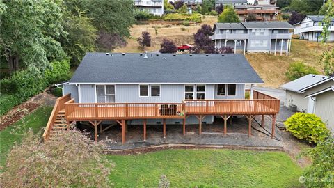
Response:
[[[236,5],[234,10],[241,21],[246,21],[248,14],[256,15],[258,21],[276,21],[280,16],[280,10],[273,5]]]

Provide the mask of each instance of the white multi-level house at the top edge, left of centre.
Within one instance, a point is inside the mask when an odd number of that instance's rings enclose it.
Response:
[[[164,14],[164,0],[134,0],[134,6],[152,15]]]

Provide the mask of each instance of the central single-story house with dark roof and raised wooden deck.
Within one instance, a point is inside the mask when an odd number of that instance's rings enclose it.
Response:
[[[274,122],[278,99],[255,92],[253,100],[244,100],[245,85],[261,83],[241,54],[87,53],[63,83],[56,110],[67,124],[183,124],[184,134],[185,125],[211,124],[214,116],[269,115]]]

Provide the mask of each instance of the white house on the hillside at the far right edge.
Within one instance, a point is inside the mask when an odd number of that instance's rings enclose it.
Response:
[[[294,24],[294,34],[299,35],[301,39],[308,41],[322,41],[322,21],[324,16],[308,15],[298,24]],[[334,41],[334,18],[331,20],[331,26],[328,28],[330,32],[326,38],[326,42]]]

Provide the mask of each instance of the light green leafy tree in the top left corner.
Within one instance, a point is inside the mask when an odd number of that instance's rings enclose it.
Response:
[[[0,50],[6,56],[10,72],[19,61],[28,68],[43,70],[49,61],[65,56],[55,39],[63,33],[63,15],[57,1],[3,1],[6,12],[0,15]]]

